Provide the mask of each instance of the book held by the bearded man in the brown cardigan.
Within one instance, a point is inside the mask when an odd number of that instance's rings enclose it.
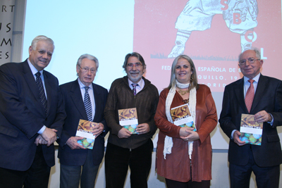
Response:
[[[129,130],[133,134],[137,134],[136,127],[138,125],[136,108],[126,108],[118,110],[119,125]]]

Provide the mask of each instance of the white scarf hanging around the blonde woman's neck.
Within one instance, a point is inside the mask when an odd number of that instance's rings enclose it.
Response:
[[[190,84],[181,84],[180,82],[176,80],[176,85],[180,89],[183,89],[183,88],[189,87]],[[169,89],[168,96],[166,97],[166,118],[171,123],[173,123],[173,120],[171,118],[171,103],[173,101],[175,94],[176,94],[176,86],[174,85],[171,87],[171,89]],[[190,90],[190,96],[189,96],[190,105],[189,106],[190,106],[190,111],[193,117],[195,127],[196,127],[196,101],[197,101],[196,95],[197,95],[197,91],[196,91],[196,88],[194,87]],[[164,159],[166,159],[166,154],[171,153],[172,146],[173,146],[172,138],[166,136],[166,138],[164,139]],[[188,142],[188,153],[189,153],[190,159],[191,159],[192,151],[193,151],[193,142]]]

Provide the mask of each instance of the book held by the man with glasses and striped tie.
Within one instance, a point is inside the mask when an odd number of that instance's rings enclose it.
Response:
[[[97,124],[98,123],[80,119],[75,136],[84,137],[84,139],[78,140],[78,144],[87,149],[93,149],[96,136],[94,136],[92,132]]]

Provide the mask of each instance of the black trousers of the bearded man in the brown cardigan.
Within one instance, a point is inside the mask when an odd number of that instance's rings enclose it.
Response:
[[[123,187],[128,166],[131,187],[148,187],[147,178],[151,170],[152,150],[151,139],[131,151],[108,142],[105,155],[106,188]]]

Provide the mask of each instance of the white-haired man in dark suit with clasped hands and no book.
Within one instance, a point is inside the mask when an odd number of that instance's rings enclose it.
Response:
[[[48,187],[66,113],[59,82],[44,70],[54,42],[37,36],[22,63],[0,67],[0,187]]]

